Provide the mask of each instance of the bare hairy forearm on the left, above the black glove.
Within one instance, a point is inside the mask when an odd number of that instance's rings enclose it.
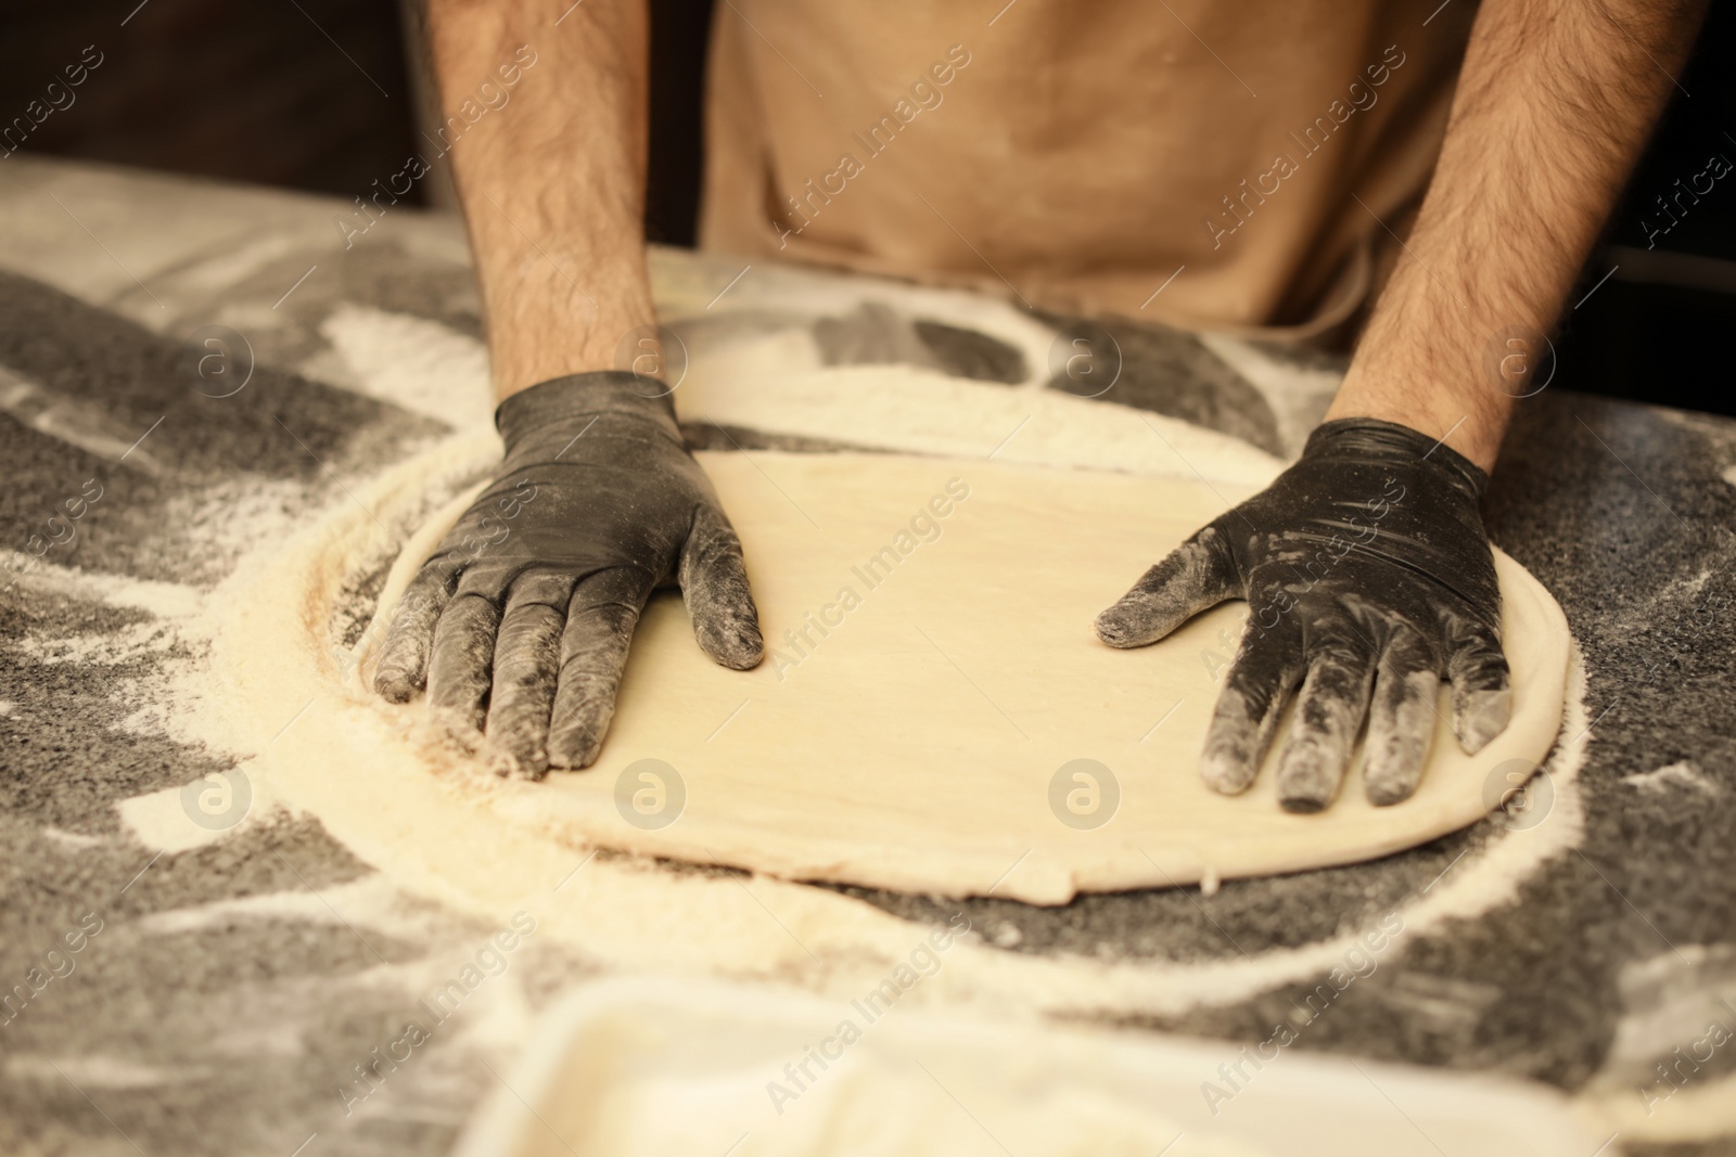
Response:
[[[429,0],[429,40],[448,114],[523,47],[535,52],[510,102],[451,151],[496,395],[616,368],[621,338],[654,321],[646,0],[585,0],[564,16],[524,0]]]

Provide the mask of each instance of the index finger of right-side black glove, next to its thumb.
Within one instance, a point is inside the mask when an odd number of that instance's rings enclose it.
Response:
[[[1272,729],[1300,675],[1300,631],[1286,630],[1285,621],[1262,631],[1250,616],[1205,734],[1200,775],[1213,791],[1246,791],[1259,775]]]

